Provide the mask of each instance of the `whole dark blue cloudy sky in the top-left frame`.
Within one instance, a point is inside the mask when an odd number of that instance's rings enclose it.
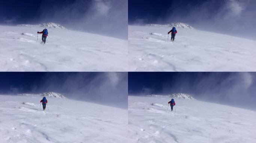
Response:
[[[127,0],[1,0],[0,24],[55,22],[68,29],[127,39]]]

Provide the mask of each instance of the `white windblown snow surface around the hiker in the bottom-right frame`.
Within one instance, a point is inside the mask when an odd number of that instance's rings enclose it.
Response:
[[[131,143],[255,143],[256,112],[188,99],[128,96]],[[167,110],[168,108],[168,110]]]

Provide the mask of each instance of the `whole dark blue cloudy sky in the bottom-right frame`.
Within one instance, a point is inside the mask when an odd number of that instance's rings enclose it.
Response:
[[[188,93],[194,98],[256,109],[256,73],[129,72],[129,95]]]

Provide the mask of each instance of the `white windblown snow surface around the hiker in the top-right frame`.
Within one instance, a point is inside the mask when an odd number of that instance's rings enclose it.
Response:
[[[196,29],[128,25],[129,71],[255,71],[256,41]],[[241,34],[238,32],[238,35]]]

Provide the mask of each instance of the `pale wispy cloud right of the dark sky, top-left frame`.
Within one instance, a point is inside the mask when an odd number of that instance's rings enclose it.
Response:
[[[127,39],[128,0],[74,0],[40,7],[37,23],[56,22],[68,29]],[[39,19],[39,20],[38,20]]]

